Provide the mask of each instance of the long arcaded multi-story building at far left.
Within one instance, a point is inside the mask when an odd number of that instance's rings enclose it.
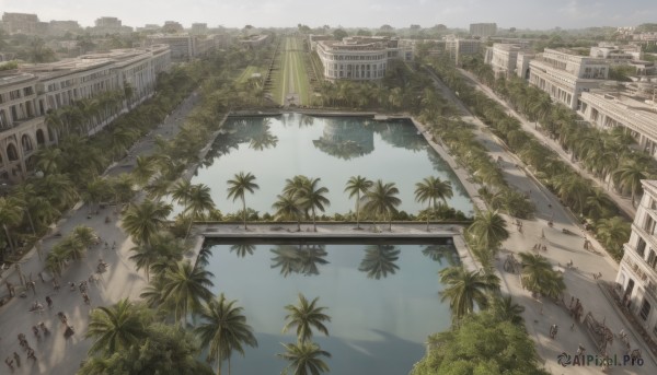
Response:
[[[33,172],[39,145],[57,142],[48,114],[105,93],[129,95],[81,125],[93,134],[119,114],[154,93],[157,74],[169,69],[165,45],[118,49],[53,63],[31,65],[0,74],[0,180],[21,180]],[[128,89],[129,87],[129,89]],[[102,101],[100,101],[102,102]]]

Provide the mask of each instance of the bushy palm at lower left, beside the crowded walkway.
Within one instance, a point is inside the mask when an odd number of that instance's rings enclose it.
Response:
[[[84,333],[85,338],[94,340],[89,353],[100,353],[108,358],[122,349],[141,342],[150,320],[148,309],[134,305],[127,298],[110,307],[92,309],[89,329]]]

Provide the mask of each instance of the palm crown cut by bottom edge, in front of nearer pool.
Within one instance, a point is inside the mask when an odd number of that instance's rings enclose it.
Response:
[[[291,375],[319,375],[328,372],[328,365],[320,356],[331,358],[331,353],[322,350],[314,342],[281,343],[286,352],[278,354],[279,358],[289,361],[286,367],[292,371]]]

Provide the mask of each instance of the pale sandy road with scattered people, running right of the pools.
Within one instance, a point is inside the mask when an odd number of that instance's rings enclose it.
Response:
[[[534,298],[527,290],[520,285],[518,273],[510,273],[504,270],[504,262],[507,257],[515,254],[516,259],[520,251],[532,251],[535,244],[545,245],[548,250],[541,251],[545,258],[557,269],[562,270],[564,281],[567,286],[565,296],[566,303],[574,296],[581,301],[584,314],[591,313],[593,317],[606,325],[613,332],[621,329],[631,331],[624,317],[621,317],[614,309],[610,301],[602,293],[599,281],[593,279],[593,273],[602,273],[600,281],[614,281],[618,273],[618,265],[603,250],[596,254],[583,248],[585,237],[592,242],[595,248],[602,249],[602,246],[578,225],[576,218],[569,211],[564,209],[558,199],[552,195],[538,179],[526,168],[522,162],[514,154],[507,152],[487,129],[487,127],[473,117],[461,101],[450,92],[450,90],[434,74],[436,86],[445,93],[445,97],[451,101],[463,113],[463,120],[476,126],[476,139],[486,147],[491,157],[496,160],[502,157],[502,171],[505,179],[510,186],[519,191],[530,195],[531,200],[537,207],[535,218],[532,220],[521,220],[522,231],[519,232],[515,218],[504,215],[508,225],[510,237],[503,244],[503,251],[495,260],[495,268],[503,280],[503,291],[510,293],[514,300],[523,305],[526,310],[523,318],[529,335],[537,342],[539,355],[545,361],[548,371],[554,374],[599,374],[599,368],[590,367],[562,367],[557,364],[557,355],[562,352],[575,354],[578,344],[588,348],[588,354],[595,354],[593,343],[587,336],[585,327],[576,324],[574,330],[569,327],[574,323],[568,312],[546,298]],[[471,184],[468,180],[462,183]],[[469,189],[477,190],[480,186]],[[548,221],[554,222],[554,227],[548,225]],[[566,234],[563,230],[569,231]],[[545,238],[542,238],[542,237]],[[573,262],[574,267],[568,268],[565,265]],[[549,336],[550,326],[556,324],[560,326],[560,333],[552,340]],[[613,374],[654,374],[657,372],[657,362],[647,353],[645,343],[638,335],[632,332],[631,344],[633,348],[642,349],[645,364],[643,367],[615,367]],[[614,340],[610,354],[623,355],[624,348],[620,340]]]

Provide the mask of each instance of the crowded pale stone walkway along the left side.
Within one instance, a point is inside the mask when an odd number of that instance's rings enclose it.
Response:
[[[157,134],[165,139],[173,138],[180,126],[183,124],[187,113],[198,102],[196,94],[192,94],[176,108],[157,129],[139,141],[129,151],[129,155],[108,168],[107,175],[116,175],[132,169],[132,162],[137,155],[148,155],[153,152],[153,139]],[[111,219],[105,223],[105,218]],[[137,300],[141,289],[146,285],[143,272],[136,272],[134,265],[128,260],[129,249],[134,244],[128,239],[120,228],[118,215],[115,208],[108,207],[101,209],[99,214],[92,214],[88,219],[88,209],[78,204],[74,209],[67,212],[65,218],[57,224],[56,233],[66,235],[77,225],[89,225],[93,227],[102,238],[99,246],[90,249],[88,255],[81,261],[72,261],[62,272],[59,280],[61,289],[56,292],[51,284],[51,277],[44,272],[44,261],[36,250],[32,250],[21,261],[21,269],[24,277],[36,282],[36,294],[27,292],[25,298],[19,296],[12,298],[7,305],[0,307],[0,361],[4,362],[8,356],[13,358],[16,352],[21,358],[21,367],[15,366],[13,374],[74,374],[80,362],[87,359],[87,351],[91,345],[90,340],[84,340],[84,332],[89,324],[89,312],[96,306],[107,306],[122,298]],[[53,246],[60,239],[58,236],[47,236],[43,239],[43,258]],[[105,249],[104,243],[107,243]],[[115,248],[113,249],[113,244]],[[110,265],[108,270],[100,276],[97,283],[91,283],[88,294],[91,297],[91,305],[83,303],[80,291],[76,288],[71,291],[69,282],[78,284],[88,280],[94,273],[99,259]],[[45,282],[39,280],[38,273],[43,272]],[[0,281],[0,288],[5,294],[4,281],[10,281],[16,285],[16,293],[23,290],[20,286],[19,276],[14,268],[4,271]],[[53,300],[53,308],[48,308],[46,296]],[[42,313],[31,313],[30,307],[34,302],[41,303],[45,308]],[[62,312],[68,318],[69,325],[73,327],[76,333],[66,339],[64,331],[66,326],[57,317],[57,313]],[[32,333],[32,326],[43,321],[49,329],[50,335],[37,339]],[[18,335],[24,333],[27,342],[35,351],[37,361],[26,360],[26,352],[19,344]],[[4,363],[0,363],[0,374],[10,374],[10,370]]]

